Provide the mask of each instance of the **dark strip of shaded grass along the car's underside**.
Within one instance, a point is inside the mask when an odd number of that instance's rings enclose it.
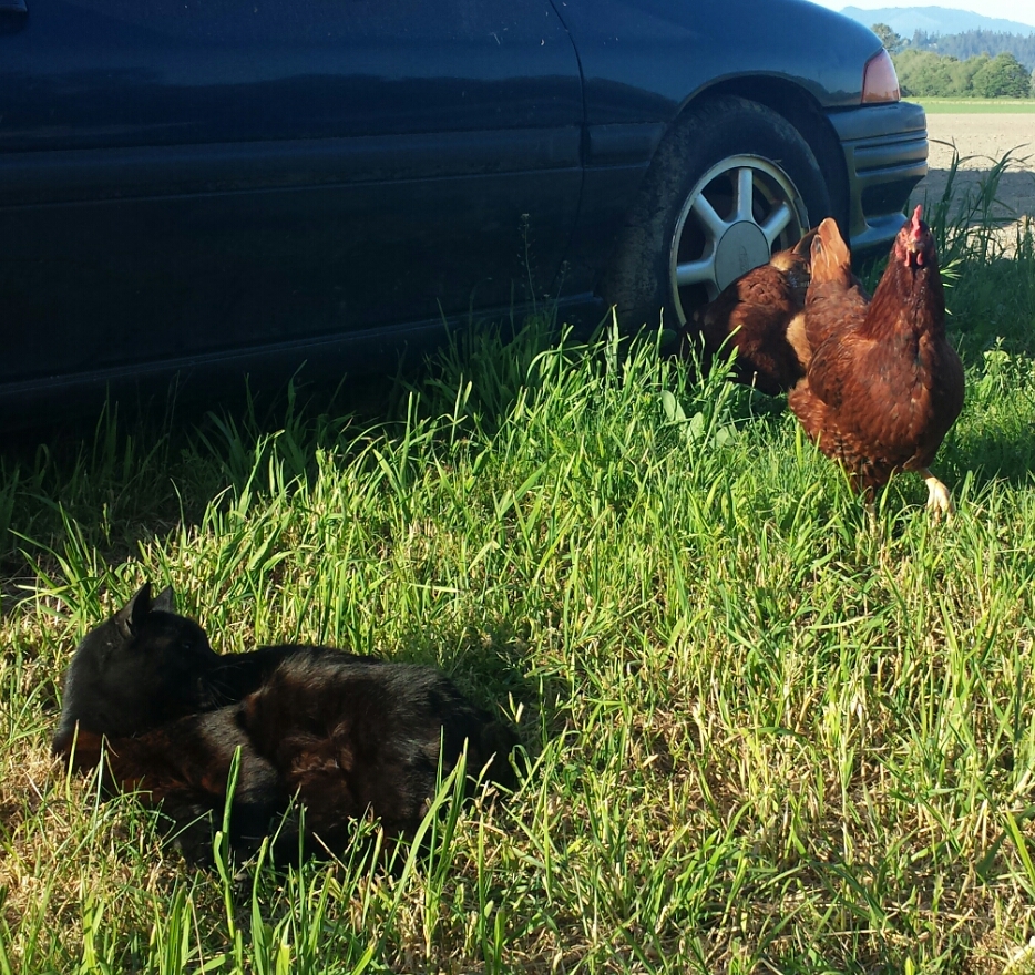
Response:
[[[467,331],[476,335],[482,326]],[[504,329],[491,327],[496,340]],[[296,379],[253,391],[247,378],[218,406],[182,400],[175,384],[150,400],[121,399],[63,413],[0,441],[0,612],[24,595],[32,563],[69,531],[96,538],[109,566],[174,527],[197,526],[227,490],[254,485],[258,468],[281,463],[288,478],[316,474],[320,451],[347,455],[375,437],[403,428],[409,399],[437,401],[444,359],[400,360],[396,371],[348,377],[337,388]],[[499,357],[498,357],[499,358]],[[476,362],[480,367],[483,363]],[[502,397],[502,388],[496,397]],[[209,404],[211,406],[211,404]],[[500,409],[505,404],[501,401]],[[427,409],[424,410],[427,412]]]

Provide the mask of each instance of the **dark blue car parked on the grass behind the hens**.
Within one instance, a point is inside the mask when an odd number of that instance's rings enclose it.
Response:
[[[926,150],[803,0],[0,0],[0,418],[682,321],[828,214],[888,246]]]

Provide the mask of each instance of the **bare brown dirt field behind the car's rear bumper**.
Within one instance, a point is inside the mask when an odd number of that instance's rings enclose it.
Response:
[[[1007,152],[1011,163],[1000,179],[994,215],[1007,226],[1035,217],[1035,114],[929,114],[928,176],[913,191],[912,204],[940,199],[949,178],[953,146],[960,153],[956,199],[978,182]]]

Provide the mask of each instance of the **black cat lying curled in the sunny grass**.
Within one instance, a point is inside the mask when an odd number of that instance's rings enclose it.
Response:
[[[297,796],[307,837],[335,850],[357,817],[412,832],[464,747],[470,773],[513,786],[518,739],[432,667],[297,645],[221,656],[145,583],[69,667],[54,751],[85,770],[102,742],[105,787],[161,803],[204,859],[238,748],[230,842],[254,849]]]

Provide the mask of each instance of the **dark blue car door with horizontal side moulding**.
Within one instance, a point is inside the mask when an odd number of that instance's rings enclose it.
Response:
[[[529,237],[532,286],[556,274],[582,93],[549,0],[25,3],[0,381],[505,308]]]

